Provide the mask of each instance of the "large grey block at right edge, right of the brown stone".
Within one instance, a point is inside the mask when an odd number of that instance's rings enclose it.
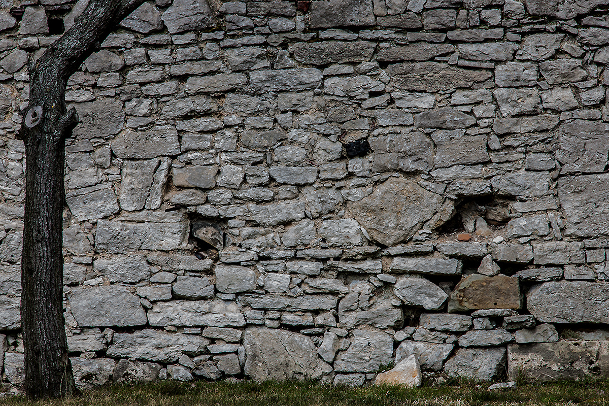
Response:
[[[546,282],[530,290],[527,309],[542,323],[609,323],[609,285]]]

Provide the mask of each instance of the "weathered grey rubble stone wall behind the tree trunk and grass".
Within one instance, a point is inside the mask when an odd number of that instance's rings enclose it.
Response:
[[[0,3],[5,382],[27,63],[85,2]],[[79,385],[607,376],[607,3],[144,3],[66,93]]]

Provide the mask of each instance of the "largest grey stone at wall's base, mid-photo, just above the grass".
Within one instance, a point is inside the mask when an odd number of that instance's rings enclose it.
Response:
[[[332,371],[317,355],[311,338],[276,329],[245,330],[245,375],[256,381],[319,379]]]

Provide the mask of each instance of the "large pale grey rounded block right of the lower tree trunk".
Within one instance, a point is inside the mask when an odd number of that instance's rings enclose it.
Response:
[[[75,287],[69,295],[70,307],[80,327],[141,326],[146,312],[139,298],[124,286]]]

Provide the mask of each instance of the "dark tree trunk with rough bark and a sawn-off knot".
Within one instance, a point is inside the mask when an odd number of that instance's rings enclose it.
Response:
[[[65,139],[78,122],[66,111],[68,78],[143,0],[90,0],[80,18],[30,66],[21,258],[21,329],[30,399],[77,393],[63,320],[62,214]]]

